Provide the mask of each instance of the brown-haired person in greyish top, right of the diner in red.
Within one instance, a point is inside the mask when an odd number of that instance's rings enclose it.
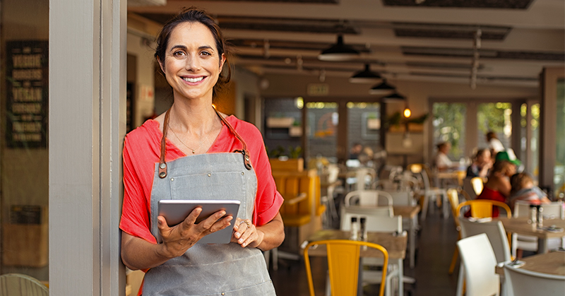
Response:
[[[533,179],[527,172],[514,174],[510,178],[510,184],[512,186],[509,197],[510,208],[514,208],[516,201],[528,201],[536,205],[551,202],[540,187],[534,186]]]

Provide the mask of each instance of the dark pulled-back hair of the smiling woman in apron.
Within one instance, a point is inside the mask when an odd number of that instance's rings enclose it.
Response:
[[[222,86],[226,83],[230,82],[230,78],[232,76],[232,69],[230,68],[229,59],[227,59],[228,55],[230,55],[229,47],[227,46],[227,42],[224,39],[224,35],[220,30],[220,26],[215,23],[214,19],[203,11],[202,9],[198,9],[194,6],[189,8],[183,8],[177,16],[171,18],[170,20],[163,25],[163,28],[160,30],[159,34],[157,35],[157,48],[155,49],[155,59],[157,62],[165,62],[165,52],[167,51],[167,45],[169,44],[169,37],[171,36],[172,30],[177,28],[177,25],[182,23],[201,23],[206,25],[206,27],[212,33],[214,40],[216,41],[216,49],[218,50],[218,55],[220,57],[220,63],[222,62],[222,54],[225,54],[225,62],[224,68],[227,68],[227,76],[222,75],[220,72],[218,76],[218,82],[214,85],[213,90],[213,97],[215,98]],[[165,75],[165,73],[163,73]]]

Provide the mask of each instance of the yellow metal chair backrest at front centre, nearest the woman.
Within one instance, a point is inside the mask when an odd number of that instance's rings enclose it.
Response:
[[[308,250],[314,245],[322,244],[326,245],[332,295],[357,295],[357,281],[359,280],[359,255],[361,246],[367,246],[381,251],[383,254],[383,274],[381,275],[379,296],[383,296],[384,285],[386,283],[386,270],[388,266],[388,252],[379,244],[347,239],[328,239],[311,242],[306,246],[306,248],[304,248],[304,264],[306,265],[310,296],[314,296],[316,294],[314,292],[314,280],[312,280]]]

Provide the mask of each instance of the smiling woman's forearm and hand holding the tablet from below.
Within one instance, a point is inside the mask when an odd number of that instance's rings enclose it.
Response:
[[[230,226],[230,221],[233,219],[232,216],[222,218],[225,211],[218,211],[201,223],[195,224],[201,211],[201,208],[194,209],[182,223],[173,227],[167,225],[163,216],[158,216],[157,227],[163,239],[162,244],[153,244],[122,232],[121,261],[131,270],[159,266],[169,259],[184,254],[205,235]]]

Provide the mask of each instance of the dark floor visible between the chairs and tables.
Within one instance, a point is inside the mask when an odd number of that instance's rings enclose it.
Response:
[[[455,295],[457,287],[458,266],[452,275],[448,275],[451,256],[456,246],[457,232],[450,216],[444,220],[439,211],[428,214],[425,221],[420,222],[417,237],[418,248],[416,266],[410,269],[405,260],[404,274],[416,279],[415,284],[405,283],[405,295]],[[311,259],[316,295],[323,295],[326,274],[326,259]],[[271,278],[279,296],[309,295],[304,261],[281,259],[278,271],[270,270]],[[364,295],[378,295],[378,287],[366,287]]]

